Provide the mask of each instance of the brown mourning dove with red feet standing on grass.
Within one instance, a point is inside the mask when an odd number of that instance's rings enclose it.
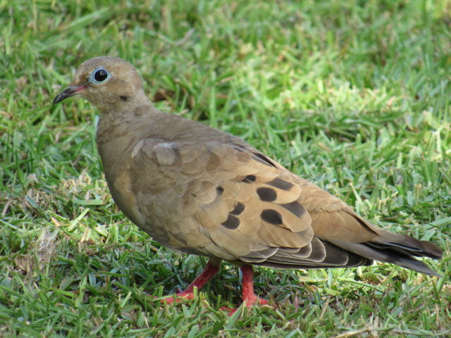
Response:
[[[247,306],[267,302],[254,294],[252,265],[342,268],[376,260],[439,276],[414,258],[441,258],[438,246],[369,223],[238,137],[162,113],[121,58],[82,63],[54,104],[75,95],[100,111],[97,146],[121,211],[164,246],[209,257],[181,298],[191,299],[222,260],[241,268]]]

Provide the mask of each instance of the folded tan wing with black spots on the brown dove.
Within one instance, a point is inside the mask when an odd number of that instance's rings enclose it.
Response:
[[[361,223],[346,227],[346,204],[244,142],[153,139],[135,148],[130,166],[143,228],[166,232],[169,246],[277,268],[369,263],[315,234],[318,227],[340,239],[350,232],[353,242],[375,237]]]

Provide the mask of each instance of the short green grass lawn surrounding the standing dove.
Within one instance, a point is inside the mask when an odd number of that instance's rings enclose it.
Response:
[[[451,334],[451,30],[437,1],[0,0],[1,337],[446,337]],[[223,265],[161,247],[113,204],[74,69],[120,56],[161,110],[239,135],[390,230],[431,239],[443,278]]]

